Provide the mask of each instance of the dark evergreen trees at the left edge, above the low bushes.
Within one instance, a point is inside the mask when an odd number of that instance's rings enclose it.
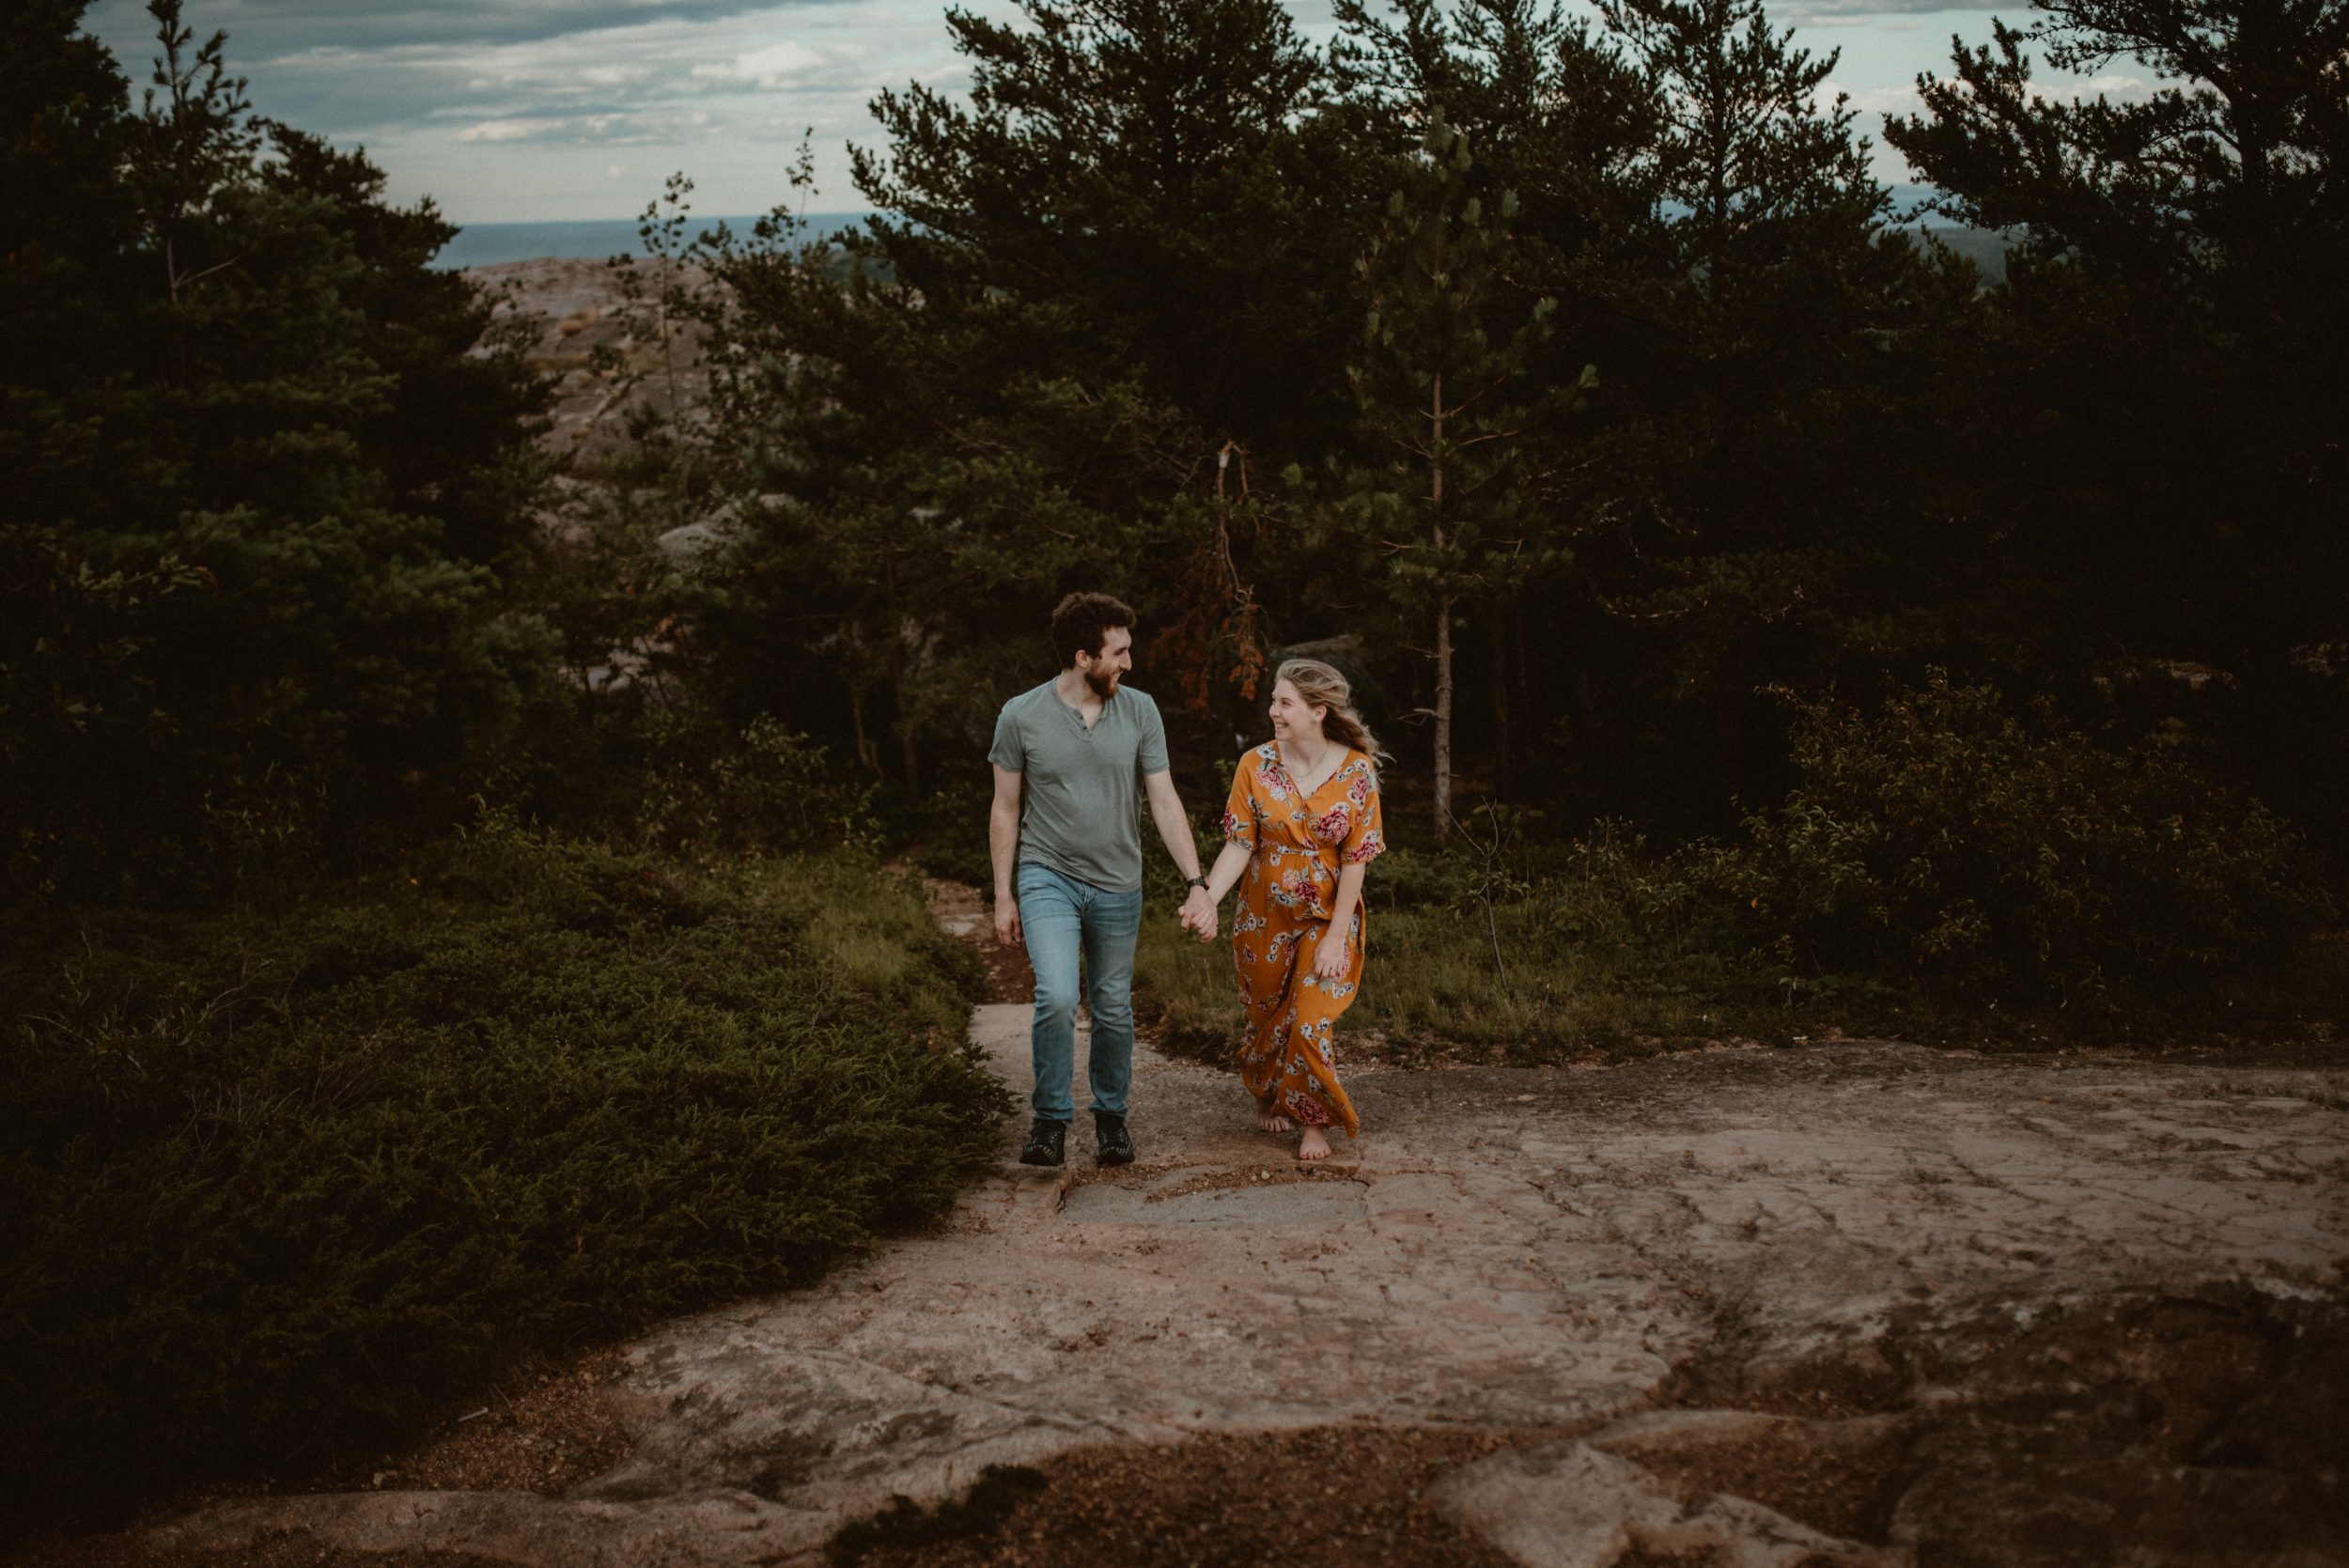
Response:
[[[512,357],[428,272],[453,232],[247,113],[150,7],[134,110],[78,7],[12,33],[0,160],[0,843],[16,892],[202,885],[207,798],[301,772],[338,852],[446,819],[547,648],[489,563],[526,526]],[[54,197],[54,200],[52,200]]]

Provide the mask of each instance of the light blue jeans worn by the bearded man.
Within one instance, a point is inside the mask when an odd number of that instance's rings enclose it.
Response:
[[[1142,934],[1142,890],[1109,892],[1050,866],[1019,861],[1019,930],[1036,969],[1036,1023],[1029,1056],[1036,1066],[1036,1120],[1069,1122],[1069,1075],[1076,1073],[1078,958],[1085,1005],[1092,1009],[1092,1059],[1085,1077],[1092,1108],[1125,1115],[1135,1077],[1135,939]]]

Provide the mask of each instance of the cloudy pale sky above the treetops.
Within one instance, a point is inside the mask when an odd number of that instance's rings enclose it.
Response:
[[[1327,0],[1287,0],[1327,40]],[[1947,0],[1788,0],[1813,54],[1842,52],[1830,89],[1870,134],[1917,106],[1919,70],[1947,75],[1950,38],[1990,38],[1990,9]],[[1926,9],[1931,7],[1931,9]],[[1010,0],[965,0],[1010,16]],[[2001,7],[2025,21],[2022,5]],[[197,38],[228,33],[254,108],[336,146],[364,146],[390,195],[430,195],[458,223],[627,218],[669,171],[702,216],[789,197],[785,167],[813,131],[810,211],[855,211],[846,143],[881,146],[867,103],[883,87],[961,92],[944,7],[933,0],[186,0]],[[82,26],[143,85],[155,56],[143,0],[96,0]],[[2091,92],[2138,96],[2114,73]],[[1877,148],[1877,174],[1907,169]]]

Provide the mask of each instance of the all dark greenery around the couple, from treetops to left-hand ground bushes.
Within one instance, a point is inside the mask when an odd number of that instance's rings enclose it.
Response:
[[[1884,138],[1994,284],[1759,0],[947,12],[970,92],[874,101],[862,230],[806,162],[752,232],[648,209],[709,394],[592,465],[432,204],[153,9],[134,94],[5,5],[0,1324],[78,1345],[0,1368],[19,1476],[413,1420],[951,1202],[975,965],[883,861],[977,880],[1071,589],[1139,610],[1203,812],[1285,650],[1353,674],[1372,897],[1468,944],[1391,1028],[2330,1028],[2342,0],[1959,40]],[[2112,61],[2159,92],[2032,75]],[[1593,953],[1602,1009],[1510,991]],[[778,1110],[778,1019],[883,1066]]]

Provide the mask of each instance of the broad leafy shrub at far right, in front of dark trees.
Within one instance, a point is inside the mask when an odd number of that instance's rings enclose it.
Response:
[[[1809,972],[1999,995],[2173,986],[2304,939],[2300,838],[2166,749],[2116,753],[1933,676],[1875,716],[1804,707],[1802,784],[1710,880]]]

